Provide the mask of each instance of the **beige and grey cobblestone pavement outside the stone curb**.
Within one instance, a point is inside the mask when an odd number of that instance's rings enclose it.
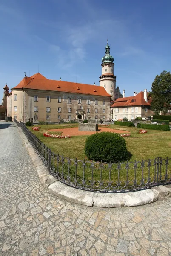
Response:
[[[115,209],[61,201],[40,184],[17,126],[0,128],[0,255],[171,255],[171,199]]]

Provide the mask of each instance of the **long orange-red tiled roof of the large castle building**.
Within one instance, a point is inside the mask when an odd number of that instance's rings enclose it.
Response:
[[[31,77],[25,76],[23,80],[20,81],[20,83],[11,90],[23,88],[111,97],[110,94],[106,92],[105,88],[101,86],[50,80],[40,73],[37,73]]]

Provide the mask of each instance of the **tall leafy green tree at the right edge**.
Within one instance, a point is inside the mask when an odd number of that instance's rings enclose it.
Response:
[[[171,73],[163,71],[160,75],[157,75],[151,86],[151,92],[149,95],[152,99],[151,110],[155,114],[159,114],[160,111],[167,113],[171,107]]]

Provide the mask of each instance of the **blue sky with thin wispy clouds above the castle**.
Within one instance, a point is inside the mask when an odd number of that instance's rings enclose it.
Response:
[[[0,0],[0,95],[38,66],[48,79],[99,85],[107,38],[121,93],[150,90],[171,71],[170,10],[170,0]]]

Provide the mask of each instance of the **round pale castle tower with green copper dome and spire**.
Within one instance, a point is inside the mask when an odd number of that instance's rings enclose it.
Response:
[[[105,47],[105,56],[102,58],[102,75],[100,78],[100,86],[103,86],[105,90],[111,95],[111,98],[115,100],[116,96],[116,76],[114,76],[114,58],[110,55],[110,46]]]

